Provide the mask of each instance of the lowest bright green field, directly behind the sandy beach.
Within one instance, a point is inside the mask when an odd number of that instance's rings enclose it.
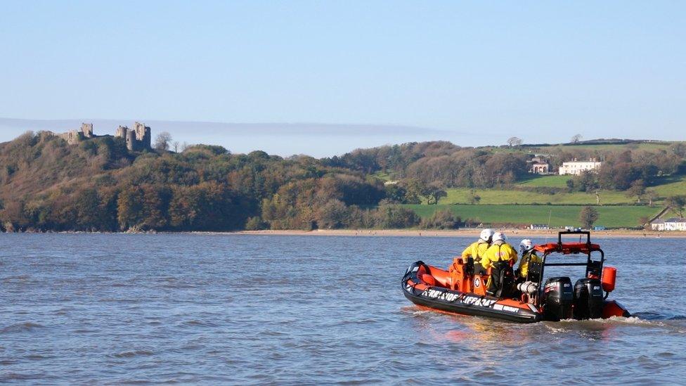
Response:
[[[571,205],[403,205],[413,209],[421,217],[429,217],[436,210],[449,209],[462,220],[473,219],[487,224],[548,224],[550,226],[580,226],[578,221],[582,206]],[[641,217],[652,217],[660,207],[603,206],[595,207],[600,218],[596,225],[608,228],[633,228],[639,226]]]

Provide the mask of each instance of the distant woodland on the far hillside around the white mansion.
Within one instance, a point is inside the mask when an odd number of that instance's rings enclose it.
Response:
[[[392,179],[415,179],[444,188],[494,188],[509,186],[526,176],[530,167],[527,160],[535,153],[543,154],[552,170],[570,160],[603,162],[593,179],[587,176],[572,181],[569,188],[573,191],[597,188],[626,191],[638,179],[649,186],[659,176],[686,173],[683,162],[686,143],[682,142],[660,150],[642,150],[638,143],[630,143],[619,150],[588,150],[564,146],[461,148],[450,142],[436,141],[358,149],[322,161],[325,165],[367,174],[387,172]]]

